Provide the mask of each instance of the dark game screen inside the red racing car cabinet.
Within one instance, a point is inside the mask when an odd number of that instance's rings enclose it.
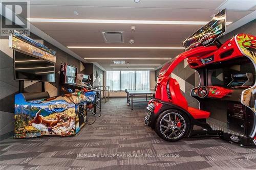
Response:
[[[246,62],[223,62],[221,68],[207,69],[207,77],[208,85],[212,86],[230,88],[252,86],[255,81],[255,69],[250,60]]]

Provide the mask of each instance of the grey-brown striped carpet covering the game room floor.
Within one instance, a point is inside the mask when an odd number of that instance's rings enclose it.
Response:
[[[102,104],[102,116],[71,137],[0,141],[0,169],[256,169],[256,148],[219,138],[170,143],[144,126],[146,104]]]

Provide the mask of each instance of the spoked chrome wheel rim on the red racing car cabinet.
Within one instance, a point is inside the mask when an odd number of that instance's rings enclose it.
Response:
[[[160,131],[168,139],[177,139],[185,133],[185,119],[176,112],[165,114],[160,120]]]

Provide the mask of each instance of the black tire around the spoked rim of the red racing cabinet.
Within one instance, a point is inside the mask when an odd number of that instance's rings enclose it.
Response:
[[[166,121],[166,116],[169,117],[170,115],[170,120],[171,122],[173,123],[167,123]],[[168,118],[167,117],[167,118]],[[182,119],[180,119],[180,127],[178,127],[177,123],[177,118],[176,118],[176,121],[172,121],[172,118],[174,117],[180,117]],[[169,119],[168,119],[169,120]],[[164,123],[166,123],[166,127],[169,128],[169,130],[167,130],[167,128],[164,128],[165,125],[163,125]],[[169,125],[169,124],[172,124],[172,125]],[[182,126],[184,125],[184,126]],[[163,127],[164,126],[164,127]],[[182,128],[182,129],[181,129]],[[170,110],[166,110],[166,111],[163,111],[157,118],[157,121],[156,121],[156,128],[155,128],[155,131],[157,132],[157,134],[164,140],[166,141],[170,141],[170,142],[173,142],[173,141],[177,141],[177,140],[180,140],[182,139],[183,137],[186,136],[187,132],[188,132],[188,129],[189,129],[189,119],[187,117],[187,115],[179,110],[176,110],[176,109],[170,109]],[[164,130],[164,132],[163,132]],[[166,131],[167,130],[167,131]],[[182,133],[181,133],[182,131]],[[176,132],[179,132],[177,135]],[[169,137],[170,135],[170,137]],[[168,136],[168,137],[167,137]],[[173,136],[173,137],[172,137]]]

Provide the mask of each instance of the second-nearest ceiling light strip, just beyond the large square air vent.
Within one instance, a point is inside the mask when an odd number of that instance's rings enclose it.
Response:
[[[173,46],[67,46],[68,48],[119,48],[119,49],[184,49],[184,47]]]

